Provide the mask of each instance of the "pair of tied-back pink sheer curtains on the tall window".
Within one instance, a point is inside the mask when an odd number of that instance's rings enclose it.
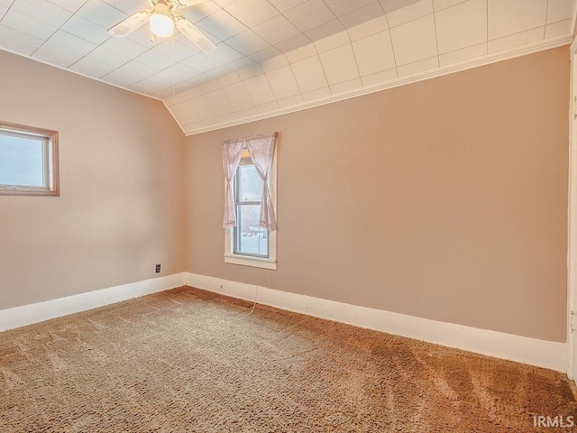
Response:
[[[270,198],[269,179],[272,168],[272,158],[276,144],[276,134],[261,134],[252,137],[227,140],[223,143],[223,169],[226,180],[224,197],[224,228],[236,226],[236,209],[234,208],[234,195],[232,181],[236,169],[241,161],[243,148],[251,155],[254,168],[262,180],[261,220],[259,225],[267,230],[276,230],[277,221]]]

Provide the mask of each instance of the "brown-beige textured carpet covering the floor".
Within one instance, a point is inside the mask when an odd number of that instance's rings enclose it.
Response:
[[[0,432],[534,432],[561,373],[181,288],[0,333]]]

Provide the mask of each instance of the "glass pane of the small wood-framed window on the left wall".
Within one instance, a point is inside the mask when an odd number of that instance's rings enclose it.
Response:
[[[0,133],[0,184],[44,186],[41,138],[25,138]]]

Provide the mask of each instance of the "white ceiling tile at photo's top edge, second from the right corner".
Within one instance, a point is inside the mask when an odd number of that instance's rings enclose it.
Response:
[[[488,0],[489,39],[545,25],[547,0]]]

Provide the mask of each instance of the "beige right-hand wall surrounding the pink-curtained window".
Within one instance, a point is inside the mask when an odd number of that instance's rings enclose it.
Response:
[[[565,341],[566,47],[188,137],[187,270]],[[278,271],[225,264],[220,143],[279,131]]]

